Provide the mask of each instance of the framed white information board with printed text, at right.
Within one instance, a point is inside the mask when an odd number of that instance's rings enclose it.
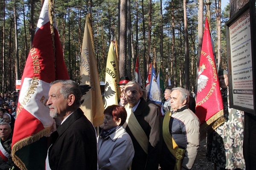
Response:
[[[253,109],[253,71],[250,9],[229,27],[233,104]]]

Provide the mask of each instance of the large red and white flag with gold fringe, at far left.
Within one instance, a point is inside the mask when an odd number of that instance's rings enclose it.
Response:
[[[45,0],[21,79],[12,159],[22,170],[44,169],[48,149],[45,135],[52,130],[53,121],[46,105],[50,82],[69,79],[52,14],[52,2]]]

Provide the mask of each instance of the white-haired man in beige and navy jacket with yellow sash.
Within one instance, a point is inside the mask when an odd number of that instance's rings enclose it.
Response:
[[[161,170],[190,170],[200,145],[200,121],[188,108],[189,91],[172,88],[172,111],[163,116]]]

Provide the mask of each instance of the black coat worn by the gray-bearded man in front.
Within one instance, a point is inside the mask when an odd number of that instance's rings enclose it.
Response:
[[[96,132],[79,108],[52,133],[49,165],[52,170],[96,170]]]

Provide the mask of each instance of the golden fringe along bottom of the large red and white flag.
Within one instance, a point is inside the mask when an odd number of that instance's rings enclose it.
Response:
[[[33,136],[29,136],[25,139],[20,140],[19,142],[15,143],[12,147],[12,160],[13,162],[21,169],[21,170],[27,170],[25,164],[15,155],[17,150],[21,149],[24,146],[27,146],[29,144],[32,144],[36,141],[38,141],[41,137],[49,135],[49,133],[52,131],[52,127],[46,127],[40,132],[36,133]]]

